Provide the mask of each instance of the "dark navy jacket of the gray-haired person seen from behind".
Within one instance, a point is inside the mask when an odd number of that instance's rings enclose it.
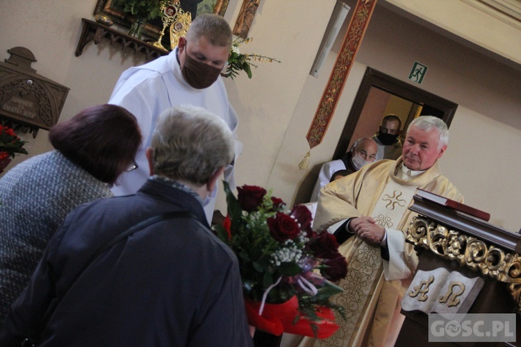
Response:
[[[115,235],[174,210],[197,220],[169,219],[135,232],[81,273]],[[0,345],[19,346],[38,331],[53,298],[61,301],[40,346],[252,345],[235,255],[209,230],[195,196],[154,179],[137,194],[67,216],[11,307]]]

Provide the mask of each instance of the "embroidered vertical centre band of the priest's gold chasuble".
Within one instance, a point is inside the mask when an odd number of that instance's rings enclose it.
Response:
[[[380,194],[370,214],[383,228],[397,229],[406,214],[415,194],[415,185],[400,185],[389,180]],[[351,241],[351,242],[349,242]],[[379,296],[383,285],[383,261],[380,248],[370,246],[358,237],[352,237],[339,248],[347,259],[347,277],[338,282],[344,289],[333,297],[332,302],[345,307],[346,319],[337,320],[340,328],[329,339],[317,340],[315,346],[356,346],[361,344],[364,335],[354,332],[369,333]],[[383,294],[385,295],[385,294]]]

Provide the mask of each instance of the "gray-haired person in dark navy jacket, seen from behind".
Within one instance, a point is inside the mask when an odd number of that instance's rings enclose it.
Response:
[[[0,345],[32,335],[42,346],[253,346],[237,257],[203,208],[233,133],[203,108],[168,109],[146,155],[152,176],[138,192],[67,216]]]

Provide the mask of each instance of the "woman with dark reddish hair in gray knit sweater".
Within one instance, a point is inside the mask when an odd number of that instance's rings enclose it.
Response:
[[[138,121],[117,105],[97,105],[49,130],[54,151],[0,179],[0,325],[28,284],[52,235],[76,206],[113,196],[109,187],[135,169]]]

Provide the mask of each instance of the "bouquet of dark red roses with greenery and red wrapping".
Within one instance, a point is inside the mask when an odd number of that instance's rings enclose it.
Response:
[[[345,257],[328,232],[311,228],[311,212],[286,203],[262,187],[243,185],[238,198],[224,182],[228,214],[217,236],[237,255],[249,323],[281,335],[329,337],[338,329],[329,298],[342,289]]]

